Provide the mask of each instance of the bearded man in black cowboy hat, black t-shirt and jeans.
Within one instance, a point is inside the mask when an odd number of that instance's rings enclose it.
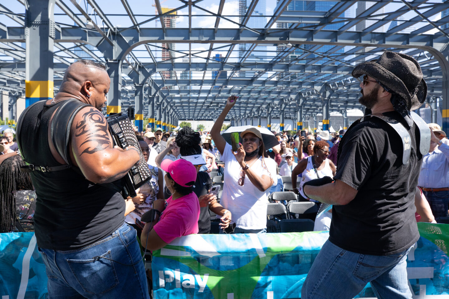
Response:
[[[406,255],[419,238],[420,144],[430,144],[430,131],[410,110],[423,104],[427,85],[413,57],[389,51],[357,65],[352,76],[363,76],[359,101],[371,114],[344,134],[335,177],[304,184],[308,198],[333,209],[329,239],[301,298],[353,298],[370,282],[378,298],[410,299]]]

